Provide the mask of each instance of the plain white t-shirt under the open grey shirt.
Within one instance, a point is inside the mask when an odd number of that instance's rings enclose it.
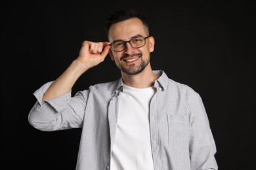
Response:
[[[123,85],[119,95],[116,137],[111,154],[111,170],[154,169],[150,142],[149,106],[155,88]]]

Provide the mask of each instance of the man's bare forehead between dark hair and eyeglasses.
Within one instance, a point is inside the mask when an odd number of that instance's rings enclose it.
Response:
[[[117,22],[110,27],[109,41],[117,39],[127,41],[135,35],[146,37],[146,29],[139,18],[131,18],[122,22]]]

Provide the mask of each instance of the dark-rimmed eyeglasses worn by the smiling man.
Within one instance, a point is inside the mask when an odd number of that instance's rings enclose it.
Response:
[[[150,36],[148,36],[150,37]],[[126,48],[126,43],[129,42],[129,44],[131,44],[131,46],[133,48],[140,48],[142,46],[144,46],[146,44],[146,39],[148,37],[135,37],[129,41],[113,41],[110,45],[111,45],[111,49],[114,52],[121,52],[123,50],[125,50]]]

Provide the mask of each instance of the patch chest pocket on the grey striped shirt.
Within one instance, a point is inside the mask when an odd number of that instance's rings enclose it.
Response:
[[[167,115],[169,146],[177,152],[188,151],[189,145],[189,117]]]

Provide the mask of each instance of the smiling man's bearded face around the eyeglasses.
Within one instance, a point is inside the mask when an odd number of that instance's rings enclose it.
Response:
[[[129,41],[135,37],[148,37],[146,29],[138,18],[118,22],[110,27],[109,39],[113,41]],[[129,42],[125,50],[114,52],[110,50],[110,57],[117,67],[127,75],[137,75],[150,62],[150,52],[154,51],[154,38],[145,39],[146,44],[140,48],[133,48]]]

